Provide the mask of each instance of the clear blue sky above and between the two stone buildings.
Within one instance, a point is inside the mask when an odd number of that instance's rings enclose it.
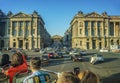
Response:
[[[9,11],[32,14],[36,10],[51,36],[64,36],[78,11],[84,14],[106,11],[108,15],[119,16],[120,0],[0,0],[0,9],[5,14]]]

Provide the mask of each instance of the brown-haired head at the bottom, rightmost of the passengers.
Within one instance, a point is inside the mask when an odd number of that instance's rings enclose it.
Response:
[[[89,70],[81,71],[78,74],[78,78],[81,80],[81,83],[100,83],[99,77]]]

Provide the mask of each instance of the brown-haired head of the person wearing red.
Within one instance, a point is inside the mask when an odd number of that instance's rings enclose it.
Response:
[[[12,55],[11,65],[13,67],[23,64],[23,57],[21,53],[15,53]]]

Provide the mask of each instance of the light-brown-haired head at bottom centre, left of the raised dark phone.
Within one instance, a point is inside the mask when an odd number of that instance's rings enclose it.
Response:
[[[80,80],[72,72],[62,72],[58,77],[57,83],[80,83]]]

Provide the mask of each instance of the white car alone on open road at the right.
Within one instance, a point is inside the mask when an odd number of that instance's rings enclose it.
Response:
[[[94,65],[97,62],[104,62],[104,58],[103,58],[102,55],[100,55],[100,54],[94,54],[93,56],[91,56],[90,63]]]

